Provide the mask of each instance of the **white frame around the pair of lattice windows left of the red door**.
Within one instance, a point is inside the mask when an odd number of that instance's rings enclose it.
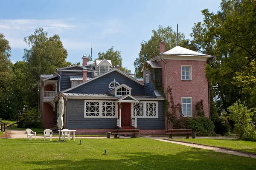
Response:
[[[85,116],[86,114],[86,102],[99,102],[99,116]],[[103,102],[113,102],[115,103],[115,115],[114,116],[103,116]],[[110,101],[110,100],[84,100],[84,118],[117,118],[117,110],[118,105],[117,102]]]

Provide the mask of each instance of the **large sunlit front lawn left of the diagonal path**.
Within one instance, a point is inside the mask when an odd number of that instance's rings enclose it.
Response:
[[[256,169],[253,158],[145,138],[76,139],[75,142],[0,139],[0,148],[0,169],[5,170]]]

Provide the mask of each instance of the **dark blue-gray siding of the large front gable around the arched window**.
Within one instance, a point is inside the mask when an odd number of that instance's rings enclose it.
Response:
[[[131,87],[131,94],[143,94],[143,85],[134,82],[117,71],[113,71],[103,77],[99,77],[91,82],[81,85],[78,88],[74,88],[68,91],[68,93],[107,94],[107,91],[110,90],[108,85],[113,82],[114,79],[116,79],[116,82],[119,82],[120,85],[125,84]]]

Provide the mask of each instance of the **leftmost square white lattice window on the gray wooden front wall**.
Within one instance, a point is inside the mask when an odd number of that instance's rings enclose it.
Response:
[[[85,101],[84,116],[99,116],[99,102]]]

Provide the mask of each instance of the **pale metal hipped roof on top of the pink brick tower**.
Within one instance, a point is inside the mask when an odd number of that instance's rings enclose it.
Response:
[[[172,48],[166,52],[163,52],[164,55],[182,55],[182,56],[202,56],[202,57],[213,57],[211,55],[203,54],[203,53],[198,53],[196,51],[192,51],[180,46],[176,46],[175,48]]]

